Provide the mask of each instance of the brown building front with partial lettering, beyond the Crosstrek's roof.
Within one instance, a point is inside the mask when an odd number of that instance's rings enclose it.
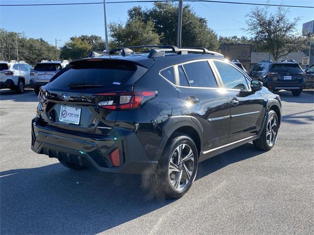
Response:
[[[251,44],[220,45],[220,51],[226,59],[239,60],[246,70],[250,69]]]

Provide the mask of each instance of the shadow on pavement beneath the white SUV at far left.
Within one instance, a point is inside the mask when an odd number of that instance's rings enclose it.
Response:
[[[38,102],[38,97],[32,89],[25,89],[23,94],[16,94],[9,89],[0,90],[0,100],[12,100],[14,102]]]

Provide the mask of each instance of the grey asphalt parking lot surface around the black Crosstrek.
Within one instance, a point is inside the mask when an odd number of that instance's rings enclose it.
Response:
[[[30,150],[32,90],[0,91],[0,234],[314,234],[314,93],[278,93],[275,147],[248,143],[199,165],[179,200],[145,178],[73,171]]]

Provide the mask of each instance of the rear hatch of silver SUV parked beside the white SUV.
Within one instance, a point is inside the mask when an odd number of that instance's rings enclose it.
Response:
[[[35,82],[49,82],[61,69],[60,63],[38,63],[32,70],[31,75]]]

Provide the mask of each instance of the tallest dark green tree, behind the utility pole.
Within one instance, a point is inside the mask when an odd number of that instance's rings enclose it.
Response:
[[[178,5],[170,2],[156,2],[151,9],[135,6],[128,11],[130,19],[152,21],[163,45],[176,45],[178,26]],[[217,35],[208,27],[205,18],[197,17],[190,5],[183,6],[182,47],[207,47],[217,50]]]

